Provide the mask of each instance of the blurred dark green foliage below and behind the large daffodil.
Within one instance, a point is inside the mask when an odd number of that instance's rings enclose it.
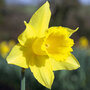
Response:
[[[73,71],[56,71],[52,90],[90,89],[90,51],[74,47],[74,53],[81,67]],[[29,69],[25,71],[26,90],[48,90],[39,84]],[[8,65],[0,56],[0,90],[20,90],[21,68]]]

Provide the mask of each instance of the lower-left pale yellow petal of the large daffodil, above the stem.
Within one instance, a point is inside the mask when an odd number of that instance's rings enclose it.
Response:
[[[14,64],[23,68],[28,68],[28,61],[26,60],[23,47],[17,44],[13,47],[6,60],[9,64]]]

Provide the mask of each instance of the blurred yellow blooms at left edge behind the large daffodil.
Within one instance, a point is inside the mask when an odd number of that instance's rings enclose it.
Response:
[[[9,51],[11,50],[11,48],[15,45],[15,41],[14,40],[10,40],[10,41],[2,41],[0,43],[0,54],[3,58],[6,58],[7,54],[9,53]]]

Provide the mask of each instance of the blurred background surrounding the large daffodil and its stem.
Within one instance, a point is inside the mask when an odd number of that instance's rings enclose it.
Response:
[[[24,31],[24,20],[47,0],[0,0],[0,90],[20,90],[21,68],[8,65],[5,58]],[[79,30],[73,54],[81,67],[73,71],[56,71],[52,90],[90,90],[90,0],[49,0],[52,17],[50,26]],[[26,70],[26,90],[48,90]]]

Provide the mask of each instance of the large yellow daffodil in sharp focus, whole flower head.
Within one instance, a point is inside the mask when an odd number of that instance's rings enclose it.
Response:
[[[38,82],[47,88],[51,88],[53,83],[53,71],[80,67],[71,54],[74,41],[70,38],[78,28],[48,28],[50,17],[49,3],[46,2],[35,12],[29,23],[24,21],[26,29],[7,57],[9,64],[30,68]]]

